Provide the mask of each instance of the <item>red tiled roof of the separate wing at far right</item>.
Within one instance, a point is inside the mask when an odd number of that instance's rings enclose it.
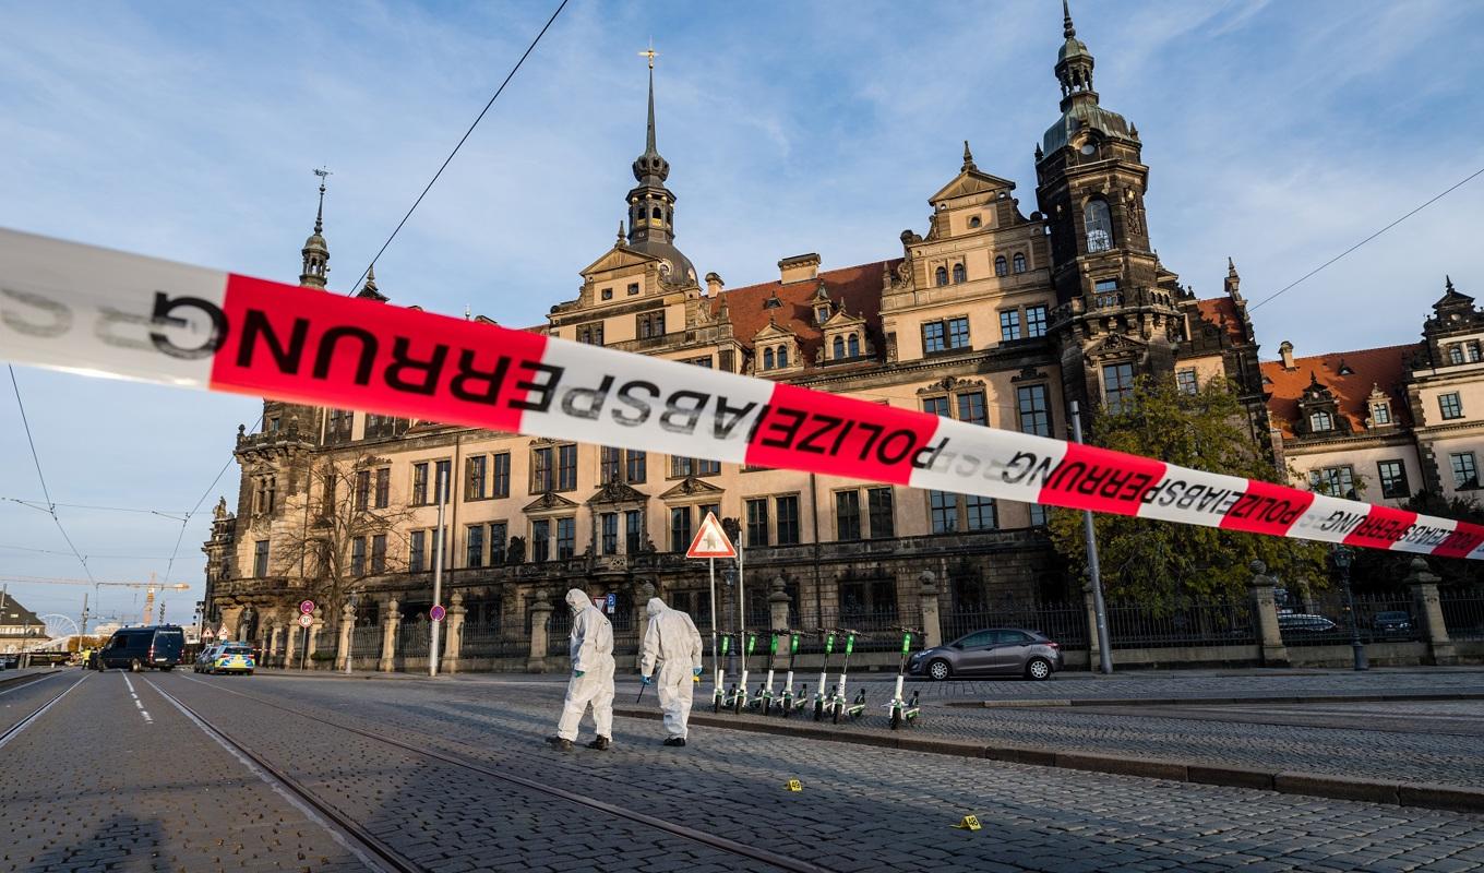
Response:
[[[1413,343],[1294,358],[1293,370],[1284,370],[1282,361],[1264,361],[1261,370],[1263,390],[1269,393],[1267,411],[1284,436],[1291,438],[1293,422],[1298,419],[1298,398],[1303,396],[1303,389],[1309,388],[1312,374],[1319,385],[1334,393],[1340,414],[1350,420],[1352,431],[1358,434],[1365,431],[1365,419],[1370,414],[1365,398],[1371,395],[1373,386],[1380,386],[1391,395],[1392,420],[1402,426],[1410,425],[1411,411],[1401,383],[1407,374],[1407,358],[1416,349],[1417,344]],[[1349,374],[1342,376],[1342,370]]]

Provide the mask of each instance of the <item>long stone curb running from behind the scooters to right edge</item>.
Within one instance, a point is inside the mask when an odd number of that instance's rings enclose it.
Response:
[[[1401,696],[1399,699],[1419,698]],[[613,714],[628,719],[647,719],[650,722],[659,722],[662,717],[660,713],[653,710],[634,710],[626,707],[614,707]],[[1061,751],[1045,747],[985,745],[982,742],[969,742],[963,739],[899,736],[895,733],[846,733],[831,728],[816,728],[812,723],[795,728],[792,725],[798,725],[797,722],[791,725],[787,722],[764,722],[761,719],[724,719],[709,713],[692,714],[690,722],[693,725],[723,728],[729,730],[803,736],[806,739],[822,739],[827,742],[846,742],[877,748],[898,748],[902,751],[920,751],[926,754],[982,757],[988,760],[1085,771],[1094,774],[1114,774],[1120,776],[1141,776],[1149,779],[1168,779],[1172,782],[1221,785],[1227,788],[1257,788],[1263,791],[1279,791],[1282,794],[1325,797],[1330,800],[1362,800],[1391,806],[1445,809],[1450,812],[1484,812],[1484,788],[1466,788],[1462,785],[1389,782],[1385,779],[1361,779],[1331,774],[1304,774],[1278,769],[1266,771],[1260,768],[1223,766],[1204,762],[1125,757],[1092,751]]]

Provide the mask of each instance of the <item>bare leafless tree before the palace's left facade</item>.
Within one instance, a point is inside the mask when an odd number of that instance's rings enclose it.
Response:
[[[386,459],[329,459],[310,469],[304,524],[283,536],[285,566],[303,567],[307,594],[335,622],[367,576],[405,570],[413,511],[390,505]],[[389,474],[381,474],[389,475]]]

